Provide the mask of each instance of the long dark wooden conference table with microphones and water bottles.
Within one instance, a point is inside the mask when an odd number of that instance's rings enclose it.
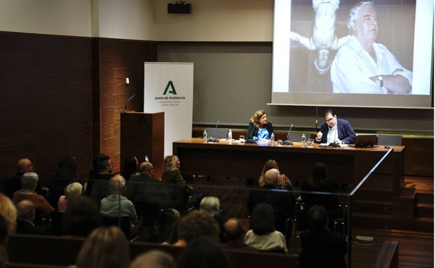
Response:
[[[310,178],[312,166],[323,162],[328,168],[328,178],[339,184],[358,184],[367,173],[386,155],[374,171],[372,178],[392,191],[404,185],[404,146],[374,145],[374,148],[320,146],[314,143],[302,147],[301,143],[281,145],[275,141],[254,144],[238,140],[220,140],[218,143],[203,143],[202,139],[188,138],[174,141],[173,154],[181,161],[185,176],[208,175],[223,178],[259,178],[268,159],[275,159],[280,172],[293,182]]]

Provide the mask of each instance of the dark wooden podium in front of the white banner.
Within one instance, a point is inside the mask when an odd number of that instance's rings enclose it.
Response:
[[[155,168],[155,178],[162,178],[165,146],[165,112],[121,113],[120,136],[121,171],[126,157],[135,156],[140,164],[148,156],[149,161],[151,161]]]

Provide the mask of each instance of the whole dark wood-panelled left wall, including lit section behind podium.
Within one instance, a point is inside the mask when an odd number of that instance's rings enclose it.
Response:
[[[87,178],[99,152],[119,171],[119,113],[133,93],[128,111],[143,110],[155,51],[155,42],[0,32],[0,178],[22,157],[46,178],[67,155]]]

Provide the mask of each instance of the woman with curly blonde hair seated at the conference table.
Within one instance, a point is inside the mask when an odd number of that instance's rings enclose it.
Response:
[[[270,139],[270,134],[273,133],[272,123],[268,122],[266,111],[256,111],[250,119],[249,127],[247,129],[247,139],[259,141],[263,139]]]

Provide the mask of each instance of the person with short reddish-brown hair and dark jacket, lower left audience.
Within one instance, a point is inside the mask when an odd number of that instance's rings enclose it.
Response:
[[[40,226],[36,226],[35,221],[35,205],[31,200],[22,200],[17,204],[17,234],[27,235],[45,235],[47,230]]]

